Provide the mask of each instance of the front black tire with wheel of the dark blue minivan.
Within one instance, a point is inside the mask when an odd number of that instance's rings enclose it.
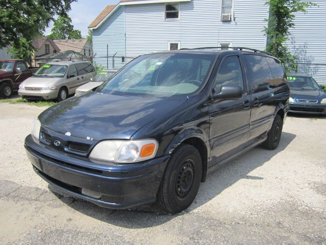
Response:
[[[173,153],[158,190],[157,199],[162,209],[180,212],[194,201],[202,177],[202,162],[198,150],[181,144]]]

